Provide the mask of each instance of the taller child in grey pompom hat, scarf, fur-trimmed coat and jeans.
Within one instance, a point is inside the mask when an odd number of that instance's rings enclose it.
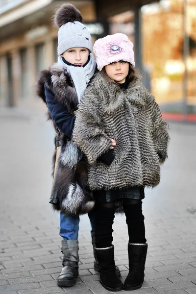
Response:
[[[72,4],[60,6],[55,13],[54,24],[59,28],[58,63],[41,72],[37,94],[47,104],[49,119],[56,130],[50,203],[60,211],[59,234],[63,238],[63,268],[57,283],[58,286],[73,286],[78,276],[78,215],[89,212],[94,200],[85,188],[86,161],[71,138],[74,111],[95,73],[96,62],[90,54],[91,35],[83,24],[80,12]],[[89,218],[95,247],[94,214],[89,214]],[[97,262],[95,270],[98,270]]]

